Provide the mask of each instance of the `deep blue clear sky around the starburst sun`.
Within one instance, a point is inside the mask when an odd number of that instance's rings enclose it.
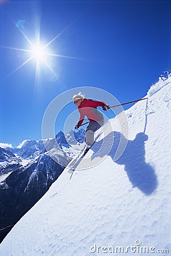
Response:
[[[94,86],[123,103],[144,97],[151,84],[170,71],[170,1],[1,1],[0,5],[0,142],[15,147],[24,139],[41,139],[47,106],[66,90]],[[46,55],[46,64],[39,60],[36,72],[37,59],[28,51],[39,34],[51,56]],[[74,110],[70,104],[59,116],[56,133]],[[110,112],[107,115],[111,118]],[[73,120],[73,127],[76,123]]]

